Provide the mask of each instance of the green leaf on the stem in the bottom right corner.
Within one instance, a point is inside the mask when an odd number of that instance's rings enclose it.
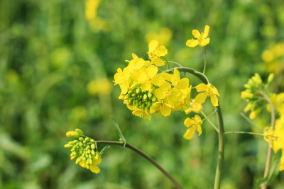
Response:
[[[282,149],[278,149],[278,151],[276,151],[276,153],[273,156],[273,159],[271,161],[271,168],[269,169],[267,176],[265,178],[261,178],[258,179],[258,181],[256,181],[258,185],[262,185],[263,183],[266,182],[268,182],[268,185],[271,185],[271,183],[278,175],[281,156],[282,156]]]

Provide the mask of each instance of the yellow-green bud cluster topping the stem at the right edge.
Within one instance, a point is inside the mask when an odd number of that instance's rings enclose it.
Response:
[[[261,76],[259,74],[254,74],[254,76],[249,79],[248,83],[244,85],[245,91],[241,92],[241,98],[244,98],[248,105],[244,108],[245,112],[251,110],[249,118],[253,120],[256,118],[258,113],[263,109],[263,105],[266,104],[266,100],[263,98],[263,94],[267,93],[268,85],[271,84],[273,80],[273,74],[268,76],[267,84],[263,84]]]

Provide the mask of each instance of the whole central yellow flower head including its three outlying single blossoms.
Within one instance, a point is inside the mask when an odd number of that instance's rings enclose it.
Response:
[[[195,38],[190,44],[196,43],[200,46],[207,45],[209,26],[205,26],[204,33],[193,30]],[[187,41],[188,43],[188,41]],[[196,45],[190,45],[193,47]],[[187,78],[180,77],[180,71],[177,68],[170,71],[161,71],[158,73],[158,67],[165,65],[162,58],[168,54],[165,46],[159,45],[157,40],[151,40],[148,45],[148,59],[138,57],[132,54],[132,58],[124,69],[117,69],[114,75],[114,84],[119,85],[121,94],[119,99],[124,100],[124,104],[132,111],[133,115],[148,118],[150,114],[162,115],[163,118],[170,115],[176,110],[185,111],[185,113],[200,113],[202,103],[207,97],[211,99],[214,106],[218,106],[220,96],[217,88],[212,84],[200,84],[196,86],[197,94],[195,99],[190,98],[191,88],[190,81]],[[164,58],[165,59],[165,58]],[[165,59],[167,62],[167,60]],[[199,135],[202,133],[202,120],[199,115],[194,118],[187,118],[185,126],[188,127],[184,134],[185,139],[191,139],[197,130]]]

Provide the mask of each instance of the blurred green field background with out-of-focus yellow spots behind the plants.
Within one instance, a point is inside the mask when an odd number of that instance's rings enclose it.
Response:
[[[275,73],[273,91],[284,89],[283,1],[0,1],[0,188],[174,188],[129,149],[107,150],[97,175],[70,161],[68,130],[119,139],[109,115],[127,142],[185,188],[212,188],[217,133],[208,122],[200,137],[185,140],[191,115],[138,118],[112,83],[132,52],[148,58],[152,39],[168,48],[167,59],[202,70],[202,48],[185,42],[206,24],[207,75],[221,94],[225,130],[253,130],[239,115],[246,105],[240,93],[255,72],[264,79]],[[193,86],[199,82],[190,76]],[[205,103],[204,112],[212,111]],[[268,126],[267,113],[258,117],[257,125]],[[258,188],[267,146],[262,137],[226,135],[222,188]],[[283,185],[280,173],[271,188]]]

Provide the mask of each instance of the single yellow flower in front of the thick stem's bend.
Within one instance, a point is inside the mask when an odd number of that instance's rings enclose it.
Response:
[[[212,84],[200,84],[196,86],[197,92],[205,91],[204,93],[200,93],[195,97],[195,101],[197,103],[204,103],[207,96],[210,97],[211,103],[214,106],[218,106],[218,98],[217,96],[220,96],[217,88],[215,88]]]

